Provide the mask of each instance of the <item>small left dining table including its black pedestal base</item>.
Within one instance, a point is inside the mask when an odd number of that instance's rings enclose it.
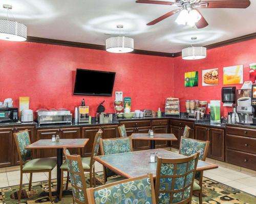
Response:
[[[63,148],[83,148],[89,139],[60,139],[59,142],[52,142],[51,139],[41,139],[25,147],[26,149],[57,149],[57,191],[52,192],[56,196],[55,202],[59,201],[61,170],[63,160]],[[63,191],[62,195],[72,194],[72,191]],[[40,196],[46,196],[49,193],[41,193]]]

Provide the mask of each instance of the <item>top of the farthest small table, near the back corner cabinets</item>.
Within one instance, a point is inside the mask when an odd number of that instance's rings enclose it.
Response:
[[[131,135],[133,140],[170,140],[177,141],[178,139],[174,134],[155,134],[154,136],[149,136],[148,133],[133,133]]]

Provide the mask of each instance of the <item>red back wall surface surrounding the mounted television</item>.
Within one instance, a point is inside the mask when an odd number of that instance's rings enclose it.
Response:
[[[30,96],[34,111],[61,107],[73,111],[84,98],[92,115],[102,100],[106,112],[114,112],[115,91],[132,97],[132,110],[157,110],[174,90],[172,58],[0,41],[0,59],[0,101],[11,97],[18,107],[19,96]],[[113,96],[73,95],[76,68],[115,71]],[[95,83],[104,86],[104,82]]]

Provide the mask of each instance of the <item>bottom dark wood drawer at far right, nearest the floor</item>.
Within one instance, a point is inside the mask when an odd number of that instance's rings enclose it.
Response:
[[[248,169],[256,169],[256,155],[242,151],[227,149],[226,162]]]

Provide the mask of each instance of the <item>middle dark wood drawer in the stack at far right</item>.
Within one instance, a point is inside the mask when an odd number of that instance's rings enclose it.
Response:
[[[256,153],[256,139],[254,138],[226,135],[226,145],[230,149]]]

